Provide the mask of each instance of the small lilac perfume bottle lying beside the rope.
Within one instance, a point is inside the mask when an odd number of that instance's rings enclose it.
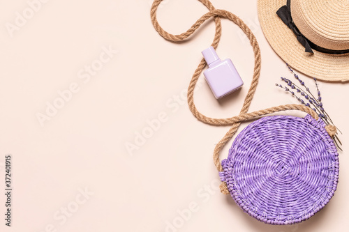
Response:
[[[204,72],[205,79],[216,99],[242,87],[244,82],[230,59],[221,61],[212,46],[202,51],[202,55],[209,65]]]

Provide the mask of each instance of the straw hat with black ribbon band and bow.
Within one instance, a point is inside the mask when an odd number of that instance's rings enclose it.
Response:
[[[348,0],[258,0],[258,15],[269,44],[292,68],[349,80]]]

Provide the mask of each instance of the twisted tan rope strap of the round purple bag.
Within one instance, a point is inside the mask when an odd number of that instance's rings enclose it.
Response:
[[[208,20],[211,17],[214,17],[214,22],[216,24],[216,33],[214,34],[214,41],[212,42],[211,46],[214,47],[214,49],[216,49],[216,47],[218,46],[218,42],[221,38],[221,31],[222,31],[221,20],[219,17],[224,17],[234,22],[235,24],[237,24],[237,26],[239,26],[242,29],[242,31],[244,31],[244,33],[246,34],[247,38],[250,40],[251,45],[253,47],[253,52],[255,54],[253,78],[252,78],[251,86],[244,100],[244,105],[242,106],[242,109],[238,116],[231,117],[231,118],[209,118],[201,114],[198,111],[198,109],[195,107],[194,97],[193,97],[194,88],[196,83],[198,82],[198,79],[200,77],[200,74],[202,73],[202,70],[204,70],[204,68],[206,67],[205,59],[202,59],[200,61],[198,68],[196,68],[193,74],[193,77],[191,78],[191,82],[188,86],[189,109],[191,109],[191,112],[196,118],[198,118],[199,121],[202,121],[203,123],[207,123],[210,125],[232,125],[232,127],[230,127],[230,130],[223,137],[223,139],[221,139],[221,141],[218,142],[218,144],[216,145],[216,148],[214,148],[214,164],[216,165],[218,171],[223,171],[221,162],[219,160],[219,154],[221,153],[223,146],[225,146],[225,144],[234,136],[235,132],[237,132],[239,125],[243,121],[248,121],[253,118],[257,118],[258,116],[264,116],[266,114],[272,114],[274,112],[285,111],[290,109],[304,111],[310,114],[316,120],[318,120],[318,115],[315,113],[315,111],[313,111],[309,107],[305,107],[304,105],[281,105],[279,107],[272,107],[269,109],[262,109],[260,111],[247,113],[248,107],[251,105],[251,101],[255,93],[255,88],[257,88],[258,78],[260,76],[260,62],[261,62],[260,47],[251,29],[249,29],[248,26],[239,17],[230,13],[229,11],[216,10],[214,6],[212,6],[210,1],[198,0],[209,9],[209,12],[206,13],[205,15],[202,15],[202,17],[200,17],[200,19],[196,21],[193,24],[193,26],[191,26],[191,28],[188,29],[188,31],[181,33],[180,35],[172,35],[167,31],[163,30],[161,26],[158,24],[158,20],[156,19],[156,10],[158,9],[158,5],[161,3],[161,1],[163,0],[155,0],[151,6],[151,12],[150,12],[151,22],[153,23],[156,31],[158,31],[158,33],[166,40],[170,40],[172,42],[185,40],[186,38],[191,36],[196,31],[196,29],[198,29],[200,25],[203,24],[206,20]],[[332,137],[336,133],[335,127],[332,125],[328,125],[326,127],[326,130],[327,132],[329,132],[329,135],[331,135]],[[225,194],[229,193],[225,183],[221,185],[221,191]]]

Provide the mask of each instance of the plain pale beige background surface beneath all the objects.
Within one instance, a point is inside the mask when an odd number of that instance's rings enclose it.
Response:
[[[14,186],[13,226],[4,226],[1,194],[0,231],[166,231],[168,223],[177,225],[168,231],[348,228],[348,84],[320,83],[325,108],[343,132],[336,194],[302,224],[270,226],[246,215],[216,188],[211,155],[228,127],[200,123],[186,99],[178,97],[214,36],[211,20],[191,40],[174,44],[151,25],[149,0],[51,0],[34,15],[29,12],[33,17],[11,37],[6,23],[15,24],[16,12],[22,14],[29,5],[26,0],[0,3],[0,192],[8,153]],[[256,1],[212,3],[239,15],[260,43],[262,73],[250,111],[295,103],[274,86],[279,77],[292,77],[262,34]],[[199,1],[165,0],[158,20],[164,29],[181,33],[206,12]],[[118,52],[107,59],[103,47]],[[216,101],[202,79],[195,103],[207,116],[234,116],[251,83],[253,52],[228,20],[223,20],[217,52],[232,59],[245,86]],[[98,65],[101,54],[103,68],[87,79],[85,65]],[[312,79],[299,76],[314,87]],[[57,91],[71,84],[77,93],[41,126],[37,114],[45,114],[47,102],[59,104]],[[149,138],[138,141],[144,144],[128,152],[126,144],[134,144],[136,134],[148,130],[147,121],[158,116],[160,128],[147,131]],[[228,146],[222,157],[227,151]],[[82,195],[85,190],[89,193]],[[189,209],[193,212],[184,222],[180,212]]]

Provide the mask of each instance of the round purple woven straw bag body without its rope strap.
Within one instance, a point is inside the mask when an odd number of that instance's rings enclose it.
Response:
[[[310,115],[268,116],[248,125],[222,161],[221,180],[238,206],[268,224],[295,224],[332,198],[339,176],[336,146]]]

